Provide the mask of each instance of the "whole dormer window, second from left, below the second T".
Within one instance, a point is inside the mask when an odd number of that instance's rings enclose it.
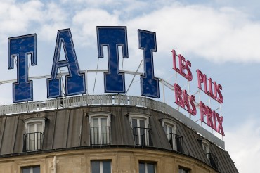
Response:
[[[89,113],[91,145],[110,144],[111,113]]]

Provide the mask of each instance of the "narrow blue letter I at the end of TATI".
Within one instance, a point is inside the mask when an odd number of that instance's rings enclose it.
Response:
[[[153,72],[153,56],[156,52],[156,34],[145,30],[138,30],[139,49],[143,49],[143,65],[145,74],[141,76],[141,95],[159,98],[159,79]]]

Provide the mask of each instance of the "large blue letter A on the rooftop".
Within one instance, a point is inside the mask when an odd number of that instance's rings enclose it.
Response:
[[[63,44],[65,60],[60,60],[61,44]],[[58,68],[62,67],[67,67],[69,72],[69,75],[65,76],[65,95],[86,93],[85,75],[79,70],[70,29],[58,30],[51,78],[47,79],[47,98],[62,96],[61,77],[57,76]]]

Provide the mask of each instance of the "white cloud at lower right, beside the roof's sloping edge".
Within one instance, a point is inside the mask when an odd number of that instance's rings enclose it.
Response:
[[[226,132],[226,150],[239,172],[255,172],[260,160],[260,120],[247,119]]]

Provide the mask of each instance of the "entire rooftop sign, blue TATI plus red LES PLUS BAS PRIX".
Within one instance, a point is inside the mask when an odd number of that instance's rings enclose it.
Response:
[[[103,58],[103,48],[108,49],[108,72],[104,72],[105,93],[125,93],[124,72],[119,70],[119,49],[122,47],[122,57],[129,58],[126,27],[97,27],[98,58]],[[153,53],[157,51],[156,34],[146,30],[138,30],[138,45],[143,51],[144,72],[140,76],[141,96],[160,98],[159,79],[154,75]],[[60,60],[60,51],[63,47],[65,60]],[[190,70],[191,63],[183,56],[176,58],[173,50],[174,70],[188,81],[193,80]],[[13,83],[13,103],[33,101],[33,81],[28,77],[28,62],[37,65],[37,35],[28,34],[20,37],[8,38],[8,69],[14,68],[14,58],[17,59],[17,81]],[[61,77],[58,69],[66,67],[68,75],[65,76],[65,94],[61,89]],[[212,82],[211,78],[197,70],[198,88],[219,103],[223,103],[221,85]],[[79,69],[77,56],[74,50],[72,34],[70,29],[58,30],[56,47],[53,56],[51,77],[46,79],[47,98],[58,98],[62,96],[73,96],[86,94],[86,77]],[[191,115],[196,115],[195,96],[188,95],[186,90],[175,83],[175,103],[185,109]],[[200,101],[201,121],[207,121],[207,125],[223,136],[221,117],[214,110]],[[207,117],[207,120],[204,120]]]

